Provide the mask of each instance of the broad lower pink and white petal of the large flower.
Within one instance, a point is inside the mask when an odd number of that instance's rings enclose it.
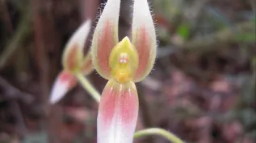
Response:
[[[97,119],[98,143],[132,143],[139,101],[133,82],[108,81]]]

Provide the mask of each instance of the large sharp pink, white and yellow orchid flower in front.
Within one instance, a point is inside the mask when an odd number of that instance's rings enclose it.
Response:
[[[99,103],[98,143],[132,143],[139,101],[134,83],[144,80],[156,58],[156,33],[147,0],[135,0],[132,42],[119,42],[120,0],[108,0],[94,31],[91,55],[99,75],[107,79]]]

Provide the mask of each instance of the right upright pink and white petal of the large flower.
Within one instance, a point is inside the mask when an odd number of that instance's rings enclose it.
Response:
[[[156,31],[147,0],[134,0],[132,43],[139,55],[139,67],[133,79],[138,82],[151,72],[157,53]]]

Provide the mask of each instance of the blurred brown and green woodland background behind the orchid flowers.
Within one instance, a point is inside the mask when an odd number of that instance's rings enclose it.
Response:
[[[0,143],[96,142],[98,104],[80,85],[58,104],[48,104],[48,96],[65,43],[106,1],[0,0]],[[120,39],[130,35],[131,6],[132,0],[121,2]],[[137,129],[161,127],[187,143],[255,143],[256,1],[151,0],[150,6],[157,61],[136,84]],[[102,92],[107,81],[95,72],[88,78]]]

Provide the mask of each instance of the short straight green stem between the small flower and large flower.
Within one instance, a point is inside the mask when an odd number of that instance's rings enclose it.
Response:
[[[94,100],[99,103],[101,96],[94,86],[90,84],[89,80],[87,80],[86,77],[81,73],[77,73],[76,76],[78,77],[78,80],[82,84],[83,88],[85,88],[86,91],[90,93],[90,96],[92,96]]]

